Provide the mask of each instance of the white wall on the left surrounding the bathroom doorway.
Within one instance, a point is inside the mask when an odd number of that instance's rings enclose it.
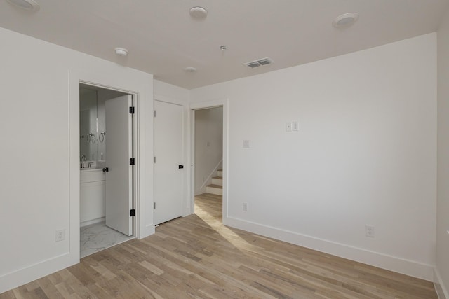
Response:
[[[2,28],[0,40],[13,47],[0,48],[2,293],[79,262],[79,80],[138,93],[138,236],[154,232],[153,92],[151,74]]]

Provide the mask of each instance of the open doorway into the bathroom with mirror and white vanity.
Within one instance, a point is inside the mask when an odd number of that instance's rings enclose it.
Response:
[[[135,237],[135,95],[80,83],[80,256]]]

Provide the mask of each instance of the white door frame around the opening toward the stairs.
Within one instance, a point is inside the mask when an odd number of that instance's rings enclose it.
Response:
[[[228,179],[229,179],[229,99],[215,99],[205,102],[194,102],[189,104],[189,146],[188,148],[188,156],[189,156],[189,165],[193,165],[190,167],[189,172],[189,206],[190,213],[194,214],[195,212],[195,176],[194,176],[194,167],[195,167],[195,110],[209,109],[215,107],[223,107],[223,162],[222,162],[222,170],[223,170],[223,195],[222,195],[222,219],[223,224],[227,222],[228,216]]]

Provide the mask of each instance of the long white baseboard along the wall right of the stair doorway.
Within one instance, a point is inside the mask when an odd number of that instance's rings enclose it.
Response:
[[[333,256],[347,258],[359,263],[373,265],[385,270],[391,270],[412,277],[425,279],[427,281],[434,281],[433,265],[417,263],[413,260],[406,260],[404,258],[398,258],[396,256],[389,256],[383,253],[368,251],[366,249],[361,249],[346,244],[340,244],[337,242],[311,237],[308,235],[302,235],[297,232],[281,230],[279,228],[273,228],[271,226],[261,225],[259,223],[244,221],[238,218],[223,218],[223,224],[231,226],[233,228],[239,228],[241,230],[253,232],[258,235],[263,235],[265,237],[271,237],[273,239],[279,239],[284,242],[321,251],[323,253],[332,254]]]

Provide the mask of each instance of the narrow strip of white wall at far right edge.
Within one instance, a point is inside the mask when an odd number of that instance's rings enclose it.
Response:
[[[436,286],[449,298],[449,12],[438,30],[438,200]],[[443,293],[445,297],[443,297]]]

